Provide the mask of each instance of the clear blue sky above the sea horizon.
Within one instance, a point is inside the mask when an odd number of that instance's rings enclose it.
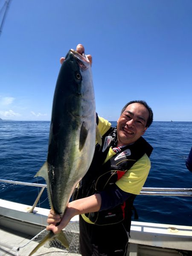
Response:
[[[191,0],[12,0],[0,35],[0,118],[49,121],[59,59],[79,43],[93,56],[100,116],[116,121],[143,99],[154,121],[192,121]]]

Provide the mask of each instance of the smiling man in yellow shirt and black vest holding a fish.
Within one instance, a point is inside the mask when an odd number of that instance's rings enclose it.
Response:
[[[77,51],[82,54],[84,48],[78,45]],[[90,169],[73,193],[63,218],[51,210],[47,220],[47,230],[59,233],[73,216],[80,215],[83,256],[126,255],[133,201],[151,167],[152,147],[142,135],[152,120],[153,112],[144,101],[128,102],[116,128],[97,116],[102,146],[96,144]]]

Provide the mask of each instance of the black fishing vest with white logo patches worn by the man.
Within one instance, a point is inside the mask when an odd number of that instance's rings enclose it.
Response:
[[[107,189],[119,180],[145,153],[150,156],[153,148],[140,137],[135,143],[122,148],[122,151],[104,163],[110,147],[117,143],[116,128],[110,128],[102,137],[102,146],[96,145],[92,163],[86,175],[79,182],[73,193],[72,200],[85,198]],[[123,204],[113,209],[85,214],[97,225],[115,224],[124,221],[125,228],[130,232],[133,202],[136,195],[131,195]]]

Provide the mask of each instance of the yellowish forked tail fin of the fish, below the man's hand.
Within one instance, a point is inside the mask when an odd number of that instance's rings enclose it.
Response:
[[[63,231],[61,231],[60,233],[58,233],[56,235],[52,231],[50,231],[47,234],[47,236],[45,236],[44,239],[42,239],[41,242],[32,250],[32,252],[29,254],[29,256],[31,256],[33,253],[35,253],[47,241],[51,241],[54,239],[58,239],[64,247],[69,248],[69,243],[68,243],[67,238],[64,235]]]

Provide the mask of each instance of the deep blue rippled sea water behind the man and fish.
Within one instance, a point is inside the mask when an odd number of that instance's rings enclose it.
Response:
[[[111,122],[116,126],[116,122]],[[0,179],[45,183],[34,178],[47,158],[50,122],[0,122]],[[144,134],[153,146],[151,170],[144,187],[192,187],[185,159],[192,147],[192,122],[153,122]],[[37,187],[0,183],[0,198],[33,204]],[[192,226],[192,197],[139,195],[138,221]],[[44,191],[39,205],[49,208]]]

